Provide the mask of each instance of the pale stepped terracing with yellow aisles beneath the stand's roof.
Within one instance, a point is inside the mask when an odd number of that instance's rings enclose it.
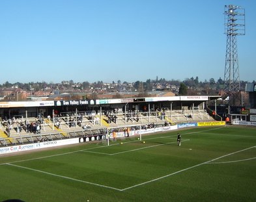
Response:
[[[91,116],[88,113],[74,114],[66,112],[51,118],[12,118],[2,120],[0,135],[1,145],[40,142],[73,136],[101,134],[107,127],[126,125],[173,125],[192,121],[214,121],[206,110],[163,110],[139,112],[114,112],[106,110],[102,114]]]

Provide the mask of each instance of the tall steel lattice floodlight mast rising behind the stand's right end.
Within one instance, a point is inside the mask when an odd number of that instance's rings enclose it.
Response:
[[[242,106],[236,36],[246,34],[245,10],[240,6],[225,5],[224,16],[227,46],[223,90],[229,95],[230,105]]]

